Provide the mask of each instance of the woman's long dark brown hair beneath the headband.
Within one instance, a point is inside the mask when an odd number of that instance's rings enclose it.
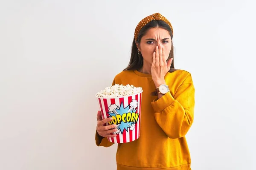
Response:
[[[162,20],[152,20],[152,21],[150,21],[143,28],[141,28],[141,30],[138,34],[137,41],[135,41],[135,39],[133,40],[132,46],[131,46],[131,59],[130,59],[130,62],[128,64],[127,68],[125,68],[124,71],[125,70],[139,70],[140,68],[142,68],[142,66],[143,66],[143,57],[142,57],[142,55],[138,54],[138,48],[137,48],[136,42],[138,44],[140,44],[141,38],[147,33],[147,31],[150,28],[156,28],[156,27],[160,27],[160,28],[163,28],[163,29],[167,30],[169,32],[169,34],[171,36],[171,40],[172,40],[172,37],[173,37],[172,30],[166,22],[164,22]],[[173,43],[172,43],[172,48],[171,48],[169,57],[166,60],[168,62],[169,59],[172,58],[172,65],[171,65],[171,68],[169,70],[169,72],[171,72],[171,73],[176,70],[174,68],[174,58],[173,57],[174,57],[174,53],[173,53]]]

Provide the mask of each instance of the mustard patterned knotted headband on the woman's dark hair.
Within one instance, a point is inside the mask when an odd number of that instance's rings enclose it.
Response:
[[[172,30],[172,35],[173,35],[172,24],[169,22],[169,20],[167,20],[166,17],[164,17],[163,15],[161,15],[159,13],[155,13],[155,14],[149,15],[148,17],[143,18],[143,20],[141,20],[140,23],[138,23],[137,27],[135,28],[135,32],[134,32],[135,40],[137,40],[138,34],[139,34],[141,28],[143,28],[143,26],[145,26],[147,23],[149,23],[152,20],[162,20],[162,21],[166,22],[170,26],[170,28]]]

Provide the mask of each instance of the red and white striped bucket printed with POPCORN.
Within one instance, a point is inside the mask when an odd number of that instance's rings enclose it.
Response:
[[[102,119],[113,118],[106,125],[117,125],[116,133],[111,133],[116,134],[116,137],[108,138],[110,142],[127,143],[140,137],[141,96],[142,91],[124,97],[97,97]]]

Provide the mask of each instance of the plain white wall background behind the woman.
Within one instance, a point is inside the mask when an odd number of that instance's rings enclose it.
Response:
[[[95,144],[94,95],[128,65],[135,27],[155,12],[174,28],[175,67],[195,83],[192,169],[255,170],[255,5],[1,0],[0,170],[116,168],[116,144]]]

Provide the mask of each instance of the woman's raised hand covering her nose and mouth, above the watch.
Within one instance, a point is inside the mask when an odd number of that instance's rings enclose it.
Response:
[[[156,46],[151,66],[151,75],[156,87],[165,82],[164,77],[170,70],[172,58],[168,62],[166,62],[166,59],[164,47],[162,45]]]

